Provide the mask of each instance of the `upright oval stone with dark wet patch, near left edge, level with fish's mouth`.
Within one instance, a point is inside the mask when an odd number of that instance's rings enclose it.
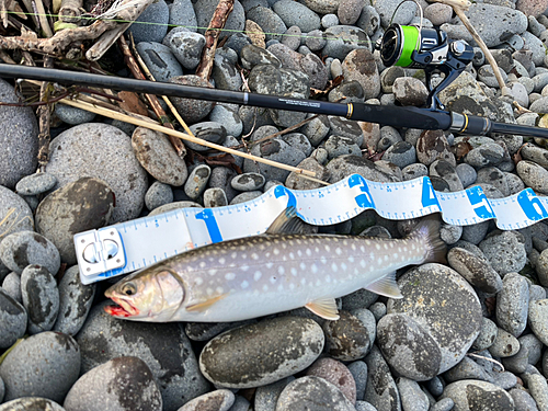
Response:
[[[21,274],[21,294],[28,313],[28,333],[52,330],[59,312],[59,289],[54,276],[41,265],[26,266]]]

